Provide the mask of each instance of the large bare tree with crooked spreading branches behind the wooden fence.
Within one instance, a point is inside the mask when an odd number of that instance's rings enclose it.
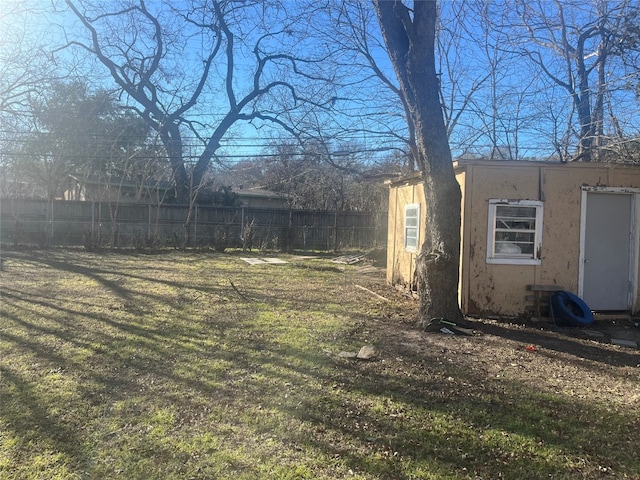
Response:
[[[89,35],[68,46],[93,54],[158,132],[184,203],[236,124],[267,122],[295,133],[279,113],[320,106],[310,84],[331,80],[310,68],[324,52],[294,53],[300,18],[275,3],[65,3]],[[308,96],[299,91],[301,81]],[[185,158],[185,132],[201,142],[193,160]]]

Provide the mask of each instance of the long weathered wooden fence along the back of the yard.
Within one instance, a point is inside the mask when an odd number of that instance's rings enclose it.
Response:
[[[366,249],[386,245],[386,212],[360,213],[2,199],[0,242],[87,248]]]

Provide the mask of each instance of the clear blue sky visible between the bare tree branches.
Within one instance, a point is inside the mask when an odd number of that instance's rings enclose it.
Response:
[[[63,2],[54,2],[60,12],[65,10]],[[98,2],[104,4],[104,2]],[[532,2],[535,4],[536,2]],[[577,4],[591,5],[590,0],[580,0]],[[149,8],[158,8],[163,2],[158,0],[148,1]],[[173,6],[182,6],[182,2],[172,2]],[[270,11],[268,18],[273,25],[282,27],[286,23],[286,15],[290,15],[302,6],[300,1],[285,2],[285,9]],[[513,3],[491,2],[496,9],[502,9],[501,14],[513,19],[515,9]],[[550,3],[540,2],[541,8],[549,8]],[[508,61],[500,63],[493,76],[491,72],[491,60],[499,56],[505,56],[504,50],[508,42],[513,41],[512,32],[499,32],[487,28],[481,21],[478,12],[469,9],[463,2],[441,2],[442,6],[442,34],[441,41],[447,44],[450,35],[457,35],[456,48],[441,56],[443,102],[451,116],[455,116],[460,109],[463,113],[458,118],[451,134],[451,145],[454,155],[462,153],[482,154],[490,151],[494,140],[500,148],[512,148],[517,146],[519,158],[537,157],[546,158],[553,153],[553,135],[558,135],[566,129],[567,118],[571,115],[571,98],[568,93],[556,85],[553,85],[544,75],[539,75],[539,69],[526,59],[510,57]],[[63,13],[46,13],[51,8],[49,2],[36,0],[0,0],[0,14],[15,13],[16,9],[24,9],[24,14],[11,17],[11,25],[14,29],[23,29],[34,41],[43,43],[43,48],[60,46],[68,39],[82,38],[81,30],[78,30],[77,22]],[[177,95],[188,94],[190,91],[190,74],[200,70],[202,65],[201,54],[210,46],[210,39],[203,35],[196,35],[184,25],[178,24],[178,18],[171,14],[166,6],[162,7],[166,15],[167,29],[180,32],[180,38],[176,39],[176,49],[172,56],[166,60],[170,64],[164,67],[164,76],[160,80],[167,80],[166,85],[175,89]],[[584,9],[572,10],[576,23],[584,22],[580,16],[588,15]],[[254,11],[254,14],[260,13]],[[6,18],[6,17],[5,17]],[[274,52],[291,52],[308,57],[318,57],[333,48],[339,40],[339,34],[330,32],[335,25],[337,16],[335,12],[315,12],[302,15],[300,21],[291,24],[292,29],[306,29],[306,35],[279,34],[270,41],[265,42],[267,48]],[[120,25],[119,32],[134,32],[144,36],[141,23],[135,25]],[[262,25],[257,22],[255,16],[248,14],[244,18],[238,18],[233,26],[238,33],[246,35],[247,40],[255,39],[256,35],[264,33]],[[372,53],[381,69],[393,77],[384,49],[375,42],[380,42],[379,31],[375,22],[369,24],[370,41],[373,42]],[[327,35],[327,33],[329,34]],[[65,34],[67,38],[65,38]],[[187,34],[192,34],[187,39]],[[2,35],[2,33],[0,33]],[[7,35],[5,34],[5,38]],[[0,36],[0,41],[2,37]],[[147,47],[152,43],[152,38],[147,37]],[[510,44],[512,45],[512,44]],[[240,47],[240,42],[238,42]],[[250,79],[254,63],[251,60],[251,48],[253,43],[248,43],[242,48],[243,53],[236,57],[236,83],[239,89],[246,89],[246,82]],[[511,48],[511,47],[510,47]],[[548,51],[540,50],[548,59],[549,65],[558,67],[562,74],[562,65]],[[91,79],[96,85],[113,88],[113,81],[106,75],[105,69],[91,59],[81,56],[81,50],[59,52],[56,55],[60,65],[73,66],[76,73]],[[367,151],[364,155],[383,155],[379,150],[398,145],[394,134],[402,134],[404,123],[399,102],[390,92],[383,87],[365,69],[360,68],[357,58],[343,57],[339,65],[324,66],[324,70],[313,71],[316,75],[340,75],[342,80],[350,82],[349,87],[331,91],[327,85],[320,82],[308,83],[301,88],[303,95],[314,99],[331,98],[335,96],[335,111],[326,112],[317,110],[312,113],[302,111],[290,115],[287,121],[304,126],[307,132],[317,130],[317,134],[325,138],[334,138],[331,148],[344,150]],[[215,68],[223,71],[225,64],[216,62]],[[448,68],[451,66],[452,75]],[[312,71],[315,67],[308,66]],[[612,63],[609,75],[612,82],[622,85],[627,72],[617,71]],[[280,62],[276,68],[269,72],[272,78],[284,75],[288,81],[294,80],[291,69],[287,70],[284,63]],[[214,125],[225,111],[226,100],[224,98],[224,84],[219,76],[208,84],[207,95],[203,97],[198,107],[190,113],[189,118],[201,123]],[[492,80],[495,82],[492,85]],[[482,81],[482,82],[481,82]],[[358,83],[356,83],[358,82]],[[492,96],[492,87],[495,86],[495,95]],[[317,91],[313,91],[317,89]],[[470,93],[473,92],[473,95]],[[281,97],[270,101],[275,106],[278,102],[292,105],[287,98],[286,90],[279,90]],[[123,98],[126,101],[126,98]],[[168,102],[168,100],[167,100]],[[611,95],[612,109],[615,110],[619,121],[630,136],[638,135],[638,100],[628,90],[617,89]],[[285,117],[282,117],[285,118]],[[554,122],[556,125],[554,126]],[[206,129],[202,128],[204,132]],[[382,133],[385,132],[386,133]],[[268,124],[254,122],[251,125],[238,124],[225,136],[223,148],[219,153],[227,155],[230,160],[244,155],[252,156],[261,152],[267,145],[277,141],[282,135],[281,130],[273,129]],[[194,140],[194,151],[199,148]]]

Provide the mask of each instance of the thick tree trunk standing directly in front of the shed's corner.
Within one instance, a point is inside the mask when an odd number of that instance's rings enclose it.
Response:
[[[455,178],[435,63],[437,5],[374,0],[382,35],[416,132],[424,184],[426,234],[416,275],[420,322],[462,319],[458,306],[460,186]]]

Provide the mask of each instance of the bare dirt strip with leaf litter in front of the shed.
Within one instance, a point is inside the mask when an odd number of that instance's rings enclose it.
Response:
[[[471,336],[428,333],[416,327],[414,298],[386,285],[375,272],[358,281],[389,300],[381,300],[385,318],[375,325],[382,355],[401,358],[398,368],[435,359],[468,373],[468,385],[459,385],[463,390],[487,385],[488,379],[508,379],[541,392],[640,407],[640,350],[611,343],[616,338],[640,341],[640,328],[631,319],[596,321],[588,329],[560,328],[551,320],[468,319]]]

